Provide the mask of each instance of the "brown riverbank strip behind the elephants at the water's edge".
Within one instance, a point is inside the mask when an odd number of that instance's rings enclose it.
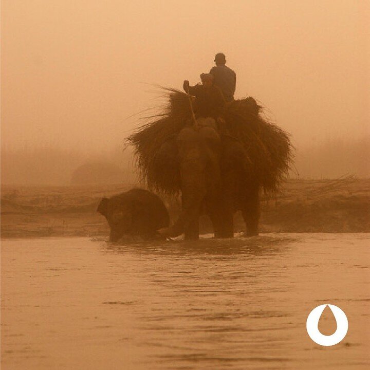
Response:
[[[108,225],[96,212],[100,199],[134,185],[2,186],[3,238],[34,236],[105,236]],[[164,199],[175,219],[180,202]],[[369,232],[370,179],[288,180],[273,199],[261,204],[261,232]],[[209,232],[206,216],[202,232]],[[235,231],[244,231],[235,215]]]

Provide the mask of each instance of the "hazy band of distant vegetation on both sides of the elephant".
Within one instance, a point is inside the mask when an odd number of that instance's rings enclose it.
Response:
[[[292,171],[290,176],[292,178],[338,178],[351,174],[367,178],[370,177],[368,158],[370,158],[370,138],[351,142],[326,140],[311,147],[298,147],[295,158],[296,171]],[[73,172],[81,165],[93,162],[105,162],[107,168],[119,169],[122,174],[121,180],[115,177],[114,182],[127,184],[137,180],[130,149],[123,151],[122,147],[116,146],[106,151],[87,153],[47,145],[25,146],[22,149],[3,146],[1,180],[2,184],[14,185],[69,185]],[[79,183],[81,181],[79,180]]]

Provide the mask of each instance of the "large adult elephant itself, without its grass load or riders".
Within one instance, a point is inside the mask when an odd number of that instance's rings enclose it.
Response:
[[[185,239],[198,239],[199,216],[208,214],[215,237],[233,237],[233,215],[241,210],[246,235],[258,235],[260,184],[251,175],[243,144],[227,131],[217,130],[212,118],[197,119],[196,126],[185,126],[173,140],[182,211],[171,227],[158,232],[166,237],[184,233]],[[170,146],[166,144],[163,150]]]

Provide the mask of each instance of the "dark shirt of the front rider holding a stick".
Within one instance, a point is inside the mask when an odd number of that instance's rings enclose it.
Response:
[[[213,117],[217,119],[220,116],[225,100],[218,87],[189,86],[189,94],[195,96],[194,114],[196,118]]]

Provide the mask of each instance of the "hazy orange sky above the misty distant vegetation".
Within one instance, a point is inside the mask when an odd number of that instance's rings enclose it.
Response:
[[[104,147],[226,53],[295,143],[366,134],[368,1],[2,0],[2,143]]]

